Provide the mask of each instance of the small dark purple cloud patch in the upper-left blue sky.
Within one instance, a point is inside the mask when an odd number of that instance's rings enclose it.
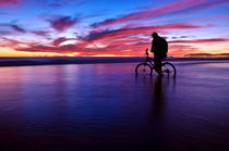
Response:
[[[56,18],[49,18],[47,21],[51,24],[51,27],[58,32],[63,32],[79,23],[79,20],[76,17],[71,16],[58,16]]]

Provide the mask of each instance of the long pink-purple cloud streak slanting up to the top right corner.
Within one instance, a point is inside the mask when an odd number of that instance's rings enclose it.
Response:
[[[121,24],[124,22],[155,18],[155,17],[165,16],[165,15],[171,15],[173,13],[193,12],[194,10],[195,10],[195,12],[203,11],[204,9],[217,7],[219,4],[225,4],[228,2],[229,2],[228,0],[198,0],[198,1],[181,0],[181,1],[174,1],[171,3],[165,4],[162,7],[159,7],[157,9],[154,9],[154,10],[134,12],[134,13],[126,14],[121,17],[109,18],[109,20],[105,20],[103,22],[94,23],[91,26],[94,28],[109,27],[109,26]]]

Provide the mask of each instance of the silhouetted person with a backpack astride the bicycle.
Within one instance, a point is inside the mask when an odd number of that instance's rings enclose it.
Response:
[[[157,33],[153,33],[152,37],[154,38],[152,41],[152,52],[154,52],[155,71],[160,74],[161,61],[167,58],[168,43],[162,37],[159,37]]]

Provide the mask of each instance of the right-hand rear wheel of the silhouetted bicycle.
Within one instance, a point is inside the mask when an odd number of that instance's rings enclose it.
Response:
[[[174,65],[169,62],[162,63],[161,72],[164,75],[167,75],[170,77],[176,77],[176,74],[177,74]]]

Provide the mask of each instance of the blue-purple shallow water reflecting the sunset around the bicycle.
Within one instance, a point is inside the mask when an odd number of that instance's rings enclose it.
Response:
[[[1,150],[228,150],[229,63],[0,68]]]

